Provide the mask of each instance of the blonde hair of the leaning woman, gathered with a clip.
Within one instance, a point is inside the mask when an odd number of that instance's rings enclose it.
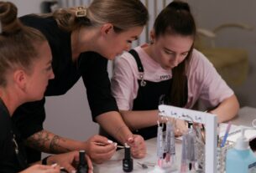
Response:
[[[149,14],[139,0],[94,0],[84,16],[77,16],[81,8],[58,9],[52,15],[60,28],[72,31],[81,26],[94,27],[112,23],[116,32],[144,26]]]

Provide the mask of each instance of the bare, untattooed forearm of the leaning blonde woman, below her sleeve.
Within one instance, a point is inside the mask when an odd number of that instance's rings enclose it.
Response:
[[[103,130],[106,130],[109,135],[112,135],[121,143],[127,142],[128,138],[133,136],[121,115],[116,111],[100,114],[96,120]]]

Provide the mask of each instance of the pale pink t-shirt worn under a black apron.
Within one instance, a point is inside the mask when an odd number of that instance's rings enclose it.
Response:
[[[163,69],[144,52],[143,48],[134,49],[144,67],[145,80],[160,82],[172,78],[171,70]],[[185,108],[191,109],[197,99],[201,99],[207,107],[217,106],[223,99],[233,94],[232,89],[227,86],[212,63],[196,49],[192,52],[186,75],[188,101]],[[118,109],[133,109],[133,99],[136,99],[138,94],[138,79],[138,66],[135,59],[130,53],[123,53],[115,60],[112,76],[112,95],[117,100]]]

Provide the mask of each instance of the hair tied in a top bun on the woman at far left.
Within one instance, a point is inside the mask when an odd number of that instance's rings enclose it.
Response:
[[[8,70],[22,67],[29,71],[38,59],[36,46],[46,41],[39,31],[20,23],[17,13],[13,3],[0,1],[0,86],[7,84]]]

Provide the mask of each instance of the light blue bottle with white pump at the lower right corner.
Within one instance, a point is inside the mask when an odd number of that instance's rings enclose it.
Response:
[[[252,128],[242,127],[242,135],[235,146],[227,150],[226,173],[255,173],[256,155],[249,147],[249,141],[244,136],[244,131]]]

